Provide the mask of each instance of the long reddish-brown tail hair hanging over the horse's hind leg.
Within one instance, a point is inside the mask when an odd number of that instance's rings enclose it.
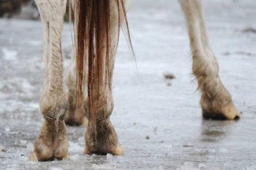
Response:
[[[106,73],[110,79],[108,71],[108,59],[111,55],[110,45],[110,1],[115,1],[119,15],[119,28],[123,28],[128,46],[134,56],[129,34],[127,15],[123,0],[77,0],[75,1],[74,17],[76,30],[76,68],[77,68],[77,107],[84,102],[84,79],[85,68],[88,71],[87,90],[88,90],[88,119],[94,126],[96,132],[96,112],[95,101],[93,98],[100,93],[103,84],[103,75]],[[120,31],[120,29],[119,29]],[[117,32],[119,34],[119,32]],[[118,43],[118,42],[117,42]],[[103,49],[106,50],[103,50]],[[87,60],[85,60],[85,56]],[[104,58],[106,57],[104,61]],[[105,63],[105,66],[104,66]],[[94,87],[98,84],[98,87]],[[97,89],[98,88],[98,89]],[[95,90],[96,89],[96,90]],[[103,88],[104,89],[104,88]],[[100,96],[100,94],[98,94]],[[90,126],[88,126],[90,128]]]

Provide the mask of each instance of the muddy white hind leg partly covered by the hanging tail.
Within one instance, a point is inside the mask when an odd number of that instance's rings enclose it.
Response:
[[[113,95],[112,95],[112,79],[113,69],[115,63],[115,52],[117,50],[117,43],[119,37],[119,22],[117,5],[115,1],[108,1],[110,3],[110,46],[106,47],[110,49],[110,55],[106,57],[106,48],[102,52],[102,75],[97,77],[97,73],[101,70],[93,67],[94,69],[94,81],[92,84],[94,87],[91,89],[92,96],[92,110],[87,110],[86,115],[88,116],[89,123],[86,131],[86,147],[84,150],[85,154],[98,154],[105,155],[107,153],[113,155],[122,155],[123,151],[119,144],[117,133],[113,124],[110,122],[110,115],[113,112]],[[106,38],[107,40],[108,38]],[[105,42],[106,43],[106,42]],[[106,45],[106,44],[104,44]],[[107,72],[105,71],[107,69]],[[89,75],[88,75],[89,76]],[[98,82],[100,83],[100,89],[98,89]],[[86,84],[89,82],[87,81]],[[104,89],[104,90],[103,90]],[[103,91],[102,91],[103,90]],[[99,94],[99,95],[98,95]],[[96,97],[98,95],[98,97]],[[89,96],[86,97],[86,108],[89,108]],[[91,112],[91,113],[89,113]],[[92,112],[94,112],[95,118],[92,118]],[[95,120],[95,121],[94,121]]]

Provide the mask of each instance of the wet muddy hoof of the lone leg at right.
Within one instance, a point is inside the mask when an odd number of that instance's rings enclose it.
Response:
[[[228,99],[221,100],[218,97],[214,99],[201,98],[201,108],[203,112],[203,118],[212,120],[237,120],[240,118],[240,112],[236,110],[234,103],[230,96]]]

